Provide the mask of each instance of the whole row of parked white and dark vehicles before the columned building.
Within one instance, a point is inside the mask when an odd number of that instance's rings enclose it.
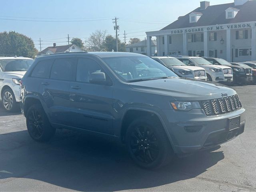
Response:
[[[256,84],[256,62],[229,63],[210,57],[152,57],[176,74],[224,84]]]

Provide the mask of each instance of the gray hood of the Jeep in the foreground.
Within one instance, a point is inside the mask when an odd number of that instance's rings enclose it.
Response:
[[[200,101],[222,98],[222,94],[232,96],[236,91],[218,83],[187,78],[169,78],[133,82],[129,86],[135,90],[170,96],[170,100]]]

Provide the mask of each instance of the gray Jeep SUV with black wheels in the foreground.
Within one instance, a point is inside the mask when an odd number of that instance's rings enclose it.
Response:
[[[56,128],[112,136],[143,168],[174,154],[212,148],[244,132],[236,91],[186,78],[148,56],[122,52],[37,58],[21,84],[30,136],[47,141]]]

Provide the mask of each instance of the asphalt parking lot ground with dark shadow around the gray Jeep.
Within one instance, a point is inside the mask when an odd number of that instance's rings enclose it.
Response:
[[[34,142],[25,118],[0,108],[0,191],[256,191],[256,86],[235,86],[246,129],[212,151],[143,170],[115,141],[58,130]]]

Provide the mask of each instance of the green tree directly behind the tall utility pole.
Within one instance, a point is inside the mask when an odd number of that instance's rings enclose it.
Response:
[[[125,45],[120,41],[120,39],[117,39],[118,41],[118,51],[119,52],[125,52]],[[103,43],[104,49],[106,51],[116,51],[116,38],[114,38],[112,35],[107,35],[104,43]]]

